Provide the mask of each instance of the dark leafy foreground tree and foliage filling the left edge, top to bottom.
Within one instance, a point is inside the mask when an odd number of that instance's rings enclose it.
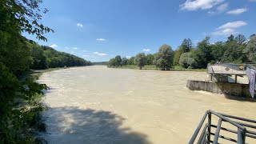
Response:
[[[32,102],[46,85],[30,78],[19,81],[17,76],[28,70],[32,62],[30,48],[26,45],[28,40],[22,32],[35,34],[39,40],[46,41],[43,35],[53,31],[39,23],[42,13],[47,11],[39,8],[41,2],[0,1],[0,143],[35,142],[31,123],[40,108]]]

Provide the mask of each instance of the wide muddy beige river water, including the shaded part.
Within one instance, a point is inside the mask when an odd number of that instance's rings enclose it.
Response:
[[[124,70],[106,66],[55,70],[46,83],[50,143],[187,143],[206,110],[256,118],[256,103],[192,91],[205,72]],[[215,123],[217,124],[217,123]]]

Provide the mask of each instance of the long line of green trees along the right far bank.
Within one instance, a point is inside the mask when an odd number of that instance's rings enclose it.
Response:
[[[156,54],[139,53],[131,58],[117,55],[111,58],[108,66],[137,65],[142,69],[145,65],[155,65],[161,70],[170,70],[172,66],[188,69],[205,69],[209,63],[256,63],[256,35],[250,38],[242,34],[234,37],[231,34],[225,42],[210,43],[210,37],[194,46],[190,38],[185,38],[177,50],[166,44]]]

